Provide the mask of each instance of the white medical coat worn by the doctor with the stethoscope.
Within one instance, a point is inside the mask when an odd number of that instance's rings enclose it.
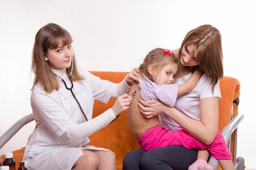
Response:
[[[66,69],[53,71],[60,77],[67,77]],[[107,103],[117,84],[101,80],[87,71],[80,73],[85,80],[73,82],[73,92],[90,122],[94,99]],[[68,78],[64,80],[70,87],[70,80]],[[86,120],[71,92],[65,88],[64,83],[60,81],[59,84],[59,90],[54,90],[50,94],[42,89],[40,83],[32,89],[30,102],[38,127],[29,136],[23,157],[25,164],[28,164],[37,154],[44,154],[53,148],[80,147],[81,149],[107,150],[87,145],[90,142],[88,137],[74,140],[63,135],[74,124],[80,124]],[[116,119],[111,109],[102,114],[104,114],[102,117],[98,116],[94,119],[93,127],[84,130],[90,130],[88,133],[93,134]],[[92,125],[92,120],[88,125]]]

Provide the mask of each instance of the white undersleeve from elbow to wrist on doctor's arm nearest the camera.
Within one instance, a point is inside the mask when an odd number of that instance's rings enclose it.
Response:
[[[83,139],[87,136],[92,135],[93,133],[101,130],[103,127],[106,127],[110,124],[116,116],[114,115],[113,111],[108,109],[101,115],[97,116],[94,119],[88,120],[87,122],[83,122],[81,124],[75,124],[71,126],[64,135],[69,137],[70,139]]]

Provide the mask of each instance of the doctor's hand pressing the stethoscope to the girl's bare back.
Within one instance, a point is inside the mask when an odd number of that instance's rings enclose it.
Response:
[[[114,115],[118,116],[126,109],[128,109],[132,99],[133,98],[131,98],[131,96],[129,96],[128,94],[123,94],[122,96],[117,97],[115,104],[111,108]]]

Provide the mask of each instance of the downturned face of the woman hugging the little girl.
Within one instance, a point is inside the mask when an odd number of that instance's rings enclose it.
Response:
[[[180,54],[180,63],[183,66],[196,66],[198,65],[198,62],[196,62],[196,56],[197,56],[197,50],[194,51],[194,55],[192,53],[194,49],[194,45],[188,45],[181,49],[181,54]]]

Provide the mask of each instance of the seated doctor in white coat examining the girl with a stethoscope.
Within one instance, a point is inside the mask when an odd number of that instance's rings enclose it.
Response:
[[[78,70],[72,42],[71,35],[53,23],[35,36],[30,102],[38,127],[29,136],[23,161],[29,170],[116,170],[115,154],[88,145],[88,136],[128,109],[132,99],[126,93],[141,76],[131,71],[114,84]],[[117,98],[113,107],[92,119],[94,99],[107,103],[110,98]]]

